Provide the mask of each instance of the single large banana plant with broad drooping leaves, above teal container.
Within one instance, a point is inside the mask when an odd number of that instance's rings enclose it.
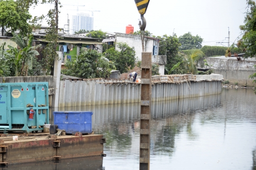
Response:
[[[8,45],[10,50],[5,52],[6,62],[10,67],[13,66],[15,76],[26,76],[28,69],[32,69],[33,58],[39,55],[36,49],[41,45],[32,46],[33,39],[32,35],[23,38],[16,33],[13,33],[13,37],[10,39],[18,45],[18,48]]]

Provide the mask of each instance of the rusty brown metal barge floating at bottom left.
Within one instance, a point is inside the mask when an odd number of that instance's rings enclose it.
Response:
[[[20,134],[0,137],[0,165],[105,156],[102,134],[47,135]]]

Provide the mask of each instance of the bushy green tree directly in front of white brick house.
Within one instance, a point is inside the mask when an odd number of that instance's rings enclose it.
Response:
[[[134,47],[129,47],[126,43],[117,43],[117,47],[120,51],[117,51],[112,47],[106,50],[104,54],[114,63],[120,73],[128,72],[129,69],[133,69],[135,67],[137,61]]]

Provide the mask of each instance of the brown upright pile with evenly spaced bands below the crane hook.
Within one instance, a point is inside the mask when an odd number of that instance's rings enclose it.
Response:
[[[150,166],[150,107],[151,107],[151,62],[149,52],[141,56],[141,104],[140,104],[140,149],[139,169],[149,170]]]

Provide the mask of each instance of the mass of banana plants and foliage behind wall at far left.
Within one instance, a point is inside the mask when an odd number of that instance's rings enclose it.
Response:
[[[20,36],[13,33],[10,40],[18,47],[8,45],[9,50],[5,51],[5,43],[0,46],[0,76],[33,76],[41,72],[38,66],[36,51],[41,45],[32,46],[33,36]],[[38,70],[39,69],[39,70]]]

